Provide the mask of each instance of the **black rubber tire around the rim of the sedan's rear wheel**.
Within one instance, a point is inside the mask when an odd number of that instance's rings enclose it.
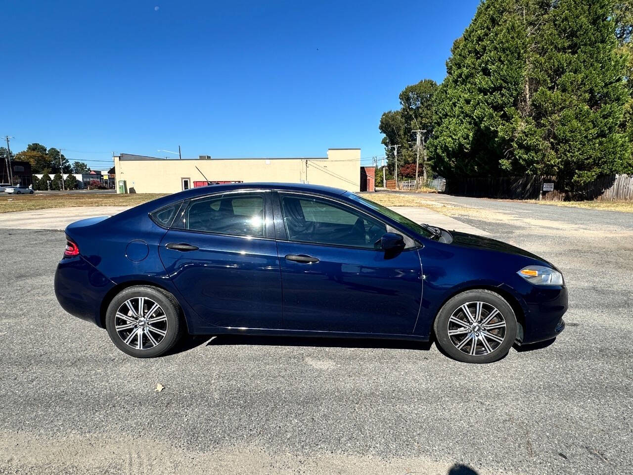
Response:
[[[163,311],[166,317],[165,324],[161,327],[161,331],[165,331],[165,336],[162,336],[162,339],[158,341],[158,344],[149,348],[133,348],[125,343],[122,334],[120,334],[116,329],[116,322],[122,322],[122,320],[117,317],[117,312],[120,307],[125,305],[126,301],[130,299],[135,300],[137,298],[143,298],[143,300],[145,298],[151,299],[154,303],[160,305],[160,310]],[[149,315],[149,317],[151,317],[151,315]],[[130,321],[134,319],[140,321],[134,316],[130,318]],[[112,299],[110,305],[108,305],[108,310],[106,310],[106,328],[108,329],[110,339],[116,347],[119,348],[119,350],[135,358],[153,358],[164,355],[166,352],[171,350],[176,343],[178,343],[182,333],[184,333],[183,326],[182,310],[180,309],[178,301],[167,291],[152,286],[134,286],[123,289],[115,296],[115,298]],[[135,329],[138,328],[132,327],[130,331],[135,331]],[[139,330],[139,334],[141,336],[141,342],[145,341],[148,346],[151,345],[149,338],[146,336],[147,333],[142,333]],[[151,332],[151,334],[158,338],[158,334],[154,334],[153,332]],[[123,333],[123,335],[125,335],[125,333]],[[132,341],[138,341],[138,334],[133,338],[136,340],[132,339]],[[143,346],[143,343],[141,343],[141,345]]]

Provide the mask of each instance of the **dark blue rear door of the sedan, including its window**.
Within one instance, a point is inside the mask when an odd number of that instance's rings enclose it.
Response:
[[[213,326],[282,326],[279,258],[270,192],[185,202],[160,257],[187,303]]]

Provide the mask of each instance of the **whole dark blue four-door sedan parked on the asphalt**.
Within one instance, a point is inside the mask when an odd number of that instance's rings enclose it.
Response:
[[[560,271],[340,189],[200,187],[66,228],[65,310],[155,357],[184,334],[434,338],[465,362],[565,327]]]

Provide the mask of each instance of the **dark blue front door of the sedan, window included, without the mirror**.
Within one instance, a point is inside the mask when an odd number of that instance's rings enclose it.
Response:
[[[284,289],[284,328],[411,334],[422,300],[416,243],[395,254],[375,248],[390,229],[346,203],[274,193]]]

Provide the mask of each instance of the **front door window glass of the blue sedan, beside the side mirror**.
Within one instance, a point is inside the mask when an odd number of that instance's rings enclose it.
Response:
[[[387,228],[351,207],[307,196],[282,196],[284,225],[291,241],[375,248]]]

